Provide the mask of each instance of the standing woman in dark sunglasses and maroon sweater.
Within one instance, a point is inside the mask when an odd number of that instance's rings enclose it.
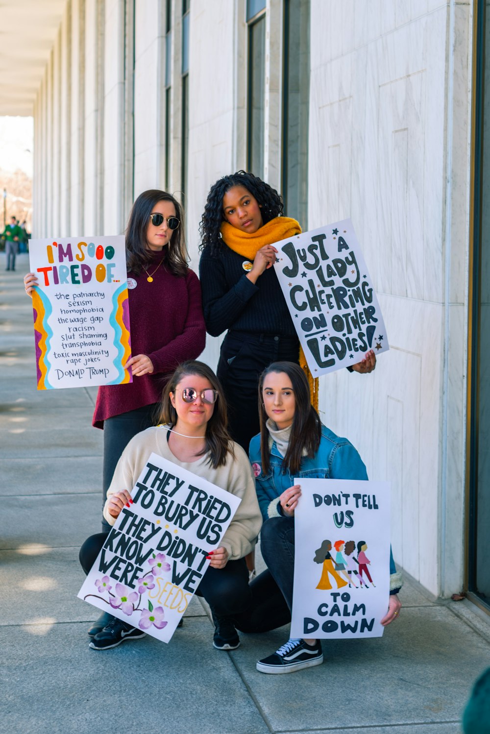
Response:
[[[102,385],[98,390],[92,424],[104,432],[103,504],[125,446],[137,433],[155,425],[169,375],[181,362],[198,357],[205,346],[201,289],[187,265],[178,201],[158,189],[140,194],[131,209],[125,244],[134,355],[125,369],[131,368],[133,382]],[[36,275],[28,273],[23,281],[31,295]],[[110,529],[105,519],[102,529]],[[106,623],[98,620],[89,633]]]

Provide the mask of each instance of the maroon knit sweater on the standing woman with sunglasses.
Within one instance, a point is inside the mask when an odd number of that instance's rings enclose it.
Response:
[[[148,283],[145,271],[128,272],[128,278],[136,281],[136,288],[128,288],[131,356],[150,357],[153,373],[133,377],[125,385],[101,385],[92,419],[97,428],[103,428],[106,418],[160,401],[175,367],[196,359],[204,349],[206,327],[197,275],[189,270],[185,277],[177,277],[164,262],[156,269],[165,261],[167,248],[162,252],[156,252],[147,266],[153,283]]]

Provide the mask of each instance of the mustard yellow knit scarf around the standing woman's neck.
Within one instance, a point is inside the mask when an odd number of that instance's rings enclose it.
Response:
[[[230,247],[230,250],[237,252],[242,258],[253,261],[260,247],[299,234],[301,233],[301,227],[296,219],[274,217],[266,225],[257,229],[257,232],[242,232],[242,230],[230,225],[230,222],[223,222],[221,231],[223,241]],[[318,377],[312,376],[302,346],[299,347],[299,364],[304,369],[310,383],[311,404],[315,410],[318,410]]]

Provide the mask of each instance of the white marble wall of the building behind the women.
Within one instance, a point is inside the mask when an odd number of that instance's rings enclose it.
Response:
[[[172,0],[165,150],[163,0],[70,0],[34,106],[34,236],[119,233],[134,197],[179,195],[182,0]],[[246,164],[245,0],[191,0],[194,269],[211,184]],[[266,17],[265,171],[279,187],[282,9]],[[464,575],[472,4],[311,0],[309,227],[351,217],[391,350],[321,379],[323,421],[393,487],[395,558],[434,594]],[[203,358],[216,366],[220,339]]]

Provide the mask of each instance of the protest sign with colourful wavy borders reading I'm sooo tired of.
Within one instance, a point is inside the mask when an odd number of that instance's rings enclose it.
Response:
[[[32,239],[37,389],[132,382],[123,236]]]

